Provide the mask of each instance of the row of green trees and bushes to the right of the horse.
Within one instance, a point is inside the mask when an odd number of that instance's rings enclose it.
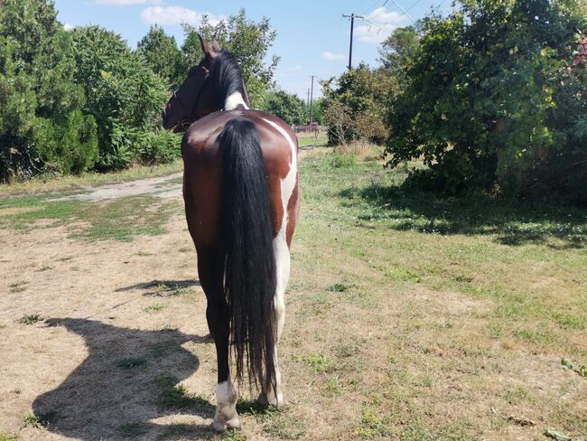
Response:
[[[406,185],[587,202],[587,8],[460,0],[396,29],[376,68],[323,82],[331,139],[421,158]]]

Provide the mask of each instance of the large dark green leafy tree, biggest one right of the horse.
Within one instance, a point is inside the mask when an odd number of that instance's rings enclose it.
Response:
[[[558,72],[583,23],[573,0],[463,0],[424,19],[390,104],[388,164],[422,157],[433,179],[420,182],[447,192],[524,170],[553,145]]]

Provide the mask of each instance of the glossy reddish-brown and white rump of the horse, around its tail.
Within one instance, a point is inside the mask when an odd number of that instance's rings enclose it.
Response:
[[[282,230],[288,217],[297,216],[297,141],[293,130],[281,119],[265,112],[216,112],[192,124],[182,140],[183,199],[196,246],[213,245],[219,239],[223,173],[219,136],[233,120],[251,122],[258,134],[275,235]],[[293,196],[295,201],[292,201]],[[291,228],[287,226],[288,242],[293,234],[294,219],[291,224]]]

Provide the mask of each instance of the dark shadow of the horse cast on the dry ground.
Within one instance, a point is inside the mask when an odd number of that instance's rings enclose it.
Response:
[[[175,330],[141,331],[87,319],[51,319],[85,339],[88,358],[61,385],[33,402],[48,430],[82,440],[157,439],[179,435],[206,438],[207,425],[165,426],[154,418],[186,411],[211,418],[207,399],[191,396],[177,383],[198,370],[200,361],[182,348],[210,339]],[[48,367],[51,369],[50,367]]]

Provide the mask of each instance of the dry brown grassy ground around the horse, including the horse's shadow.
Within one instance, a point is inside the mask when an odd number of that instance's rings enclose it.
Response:
[[[587,439],[587,379],[561,364],[587,363],[581,245],[400,230],[343,192],[377,167],[304,161],[280,349],[288,408],[245,401],[242,432],[208,429],[215,352],[174,211],[164,234],[128,242],[71,239],[67,223],[0,230],[0,434]]]

